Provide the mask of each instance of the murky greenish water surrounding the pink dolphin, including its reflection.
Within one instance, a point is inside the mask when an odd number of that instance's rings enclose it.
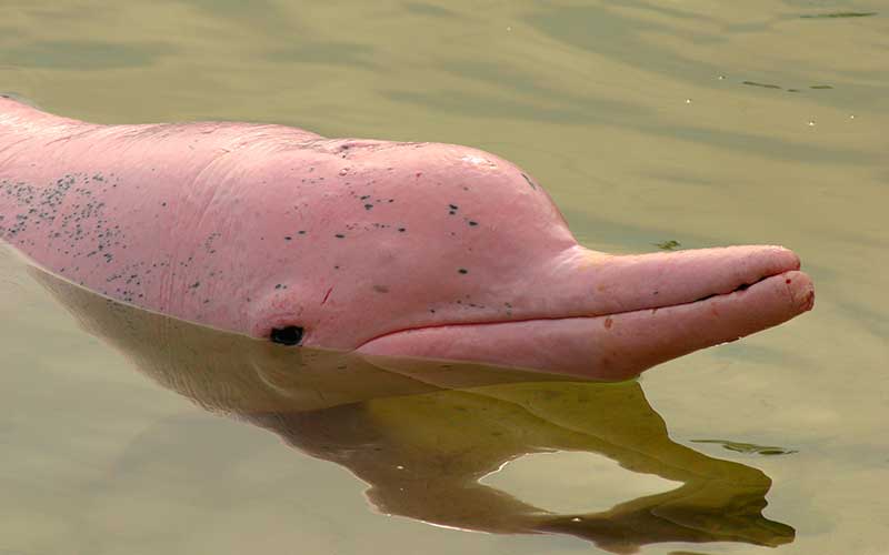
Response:
[[[588,246],[780,243],[818,301],[639,383],[331,384],[2,256],[0,553],[887,553],[887,49],[875,0],[4,0],[49,111],[470,144]]]

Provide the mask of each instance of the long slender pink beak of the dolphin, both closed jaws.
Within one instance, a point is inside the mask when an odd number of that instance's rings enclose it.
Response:
[[[358,352],[626,380],[811,310],[799,266],[779,246],[626,256],[575,246],[529,279],[516,303],[528,315],[399,331]]]

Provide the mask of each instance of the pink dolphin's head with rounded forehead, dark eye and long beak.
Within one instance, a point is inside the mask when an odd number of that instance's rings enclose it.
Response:
[[[291,163],[266,167],[264,203],[287,210],[253,231],[279,245],[251,262],[266,270],[251,283],[264,292],[247,313],[256,336],[620,380],[812,306],[799,259],[779,246],[580,246],[542,188],[487,152],[356,140],[311,150],[312,163],[282,152]]]

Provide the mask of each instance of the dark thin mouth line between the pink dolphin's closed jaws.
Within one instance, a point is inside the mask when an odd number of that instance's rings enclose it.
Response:
[[[521,324],[521,323],[530,323],[530,322],[553,322],[553,321],[569,321],[569,320],[595,320],[595,319],[610,319],[621,315],[628,314],[642,314],[648,312],[649,314],[655,314],[660,311],[670,311],[675,309],[681,309],[685,306],[692,306],[698,304],[703,304],[708,301],[713,300],[723,300],[729,299],[732,295],[740,296],[748,291],[757,290],[759,287],[765,286],[767,282],[771,282],[776,279],[785,280],[785,275],[790,272],[796,272],[797,270],[788,269],[779,271],[778,273],[763,275],[760,279],[753,281],[752,283],[741,283],[740,285],[736,286],[733,290],[728,291],[726,293],[712,293],[700,299],[696,299],[695,301],[683,302],[683,303],[673,303],[673,304],[665,304],[659,306],[645,306],[639,309],[630,309],[626,311],[618,311],[611,312],[607,314],[580,314],[580,315],[570,315],[570,316],[533,316],[533,317],[526,317],[526,319],[510,319],[510,320],[488,320],[488,321],[478,321],[478,322],[452,322],[452,323],[440,323],[440,324],[429,324],[429,325],[418,325],[414,327],[404,327],[400,330],[393,330],[391,332],[386,332],[374,337],[371,337],[357,347],[354,351],[360,351],[364,346],[376,341],[390,337],[393,335],[402,334],[402,333],[410,333],[410,332],[419,332],[423,330],[436,330],[436,329],[447,329],[447,327],[469,327],[469,326],[487,326],[487,325],[505,325],[505,324]],[[789,284],[790,282],[787,281]]]

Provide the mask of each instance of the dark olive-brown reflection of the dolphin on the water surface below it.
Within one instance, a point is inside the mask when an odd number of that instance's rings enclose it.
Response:
[[[661,542],[793,539],[792,527],[762,515],[771,480],[672,442],[637,382],[286,349],[29,271],[142,373],[344,466],[370,484],[381,513],[468,531],[570,534],[615,553]],[[480,483],[522,455],[556,451],[600,454],[682,485],[603,512],[557,514]]]

